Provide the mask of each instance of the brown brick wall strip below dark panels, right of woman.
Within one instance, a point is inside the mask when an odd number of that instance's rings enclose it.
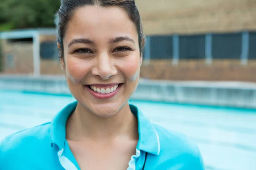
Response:
[[[204,60],[180,60],[176,66],[172,60],[152,60],[142,65],[140,75],[145,79],[256,82],[255,73],[255,60],[248,65],[236,59],[213,60],[212,65]]]

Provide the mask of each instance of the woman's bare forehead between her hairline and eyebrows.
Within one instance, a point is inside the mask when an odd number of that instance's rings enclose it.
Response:
[[[76,9],[71,17],[64,41],[79,37],[96,41],[117,36],[129,36],[134,38],[134,41],[138,41],[137,29],[124,9],[84,6]]]

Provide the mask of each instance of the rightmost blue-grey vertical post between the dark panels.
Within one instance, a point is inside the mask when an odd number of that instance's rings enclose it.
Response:
[[[241,64],[247,65],[249,54],[249,33],[247,31],[242,33],[241,45]]]

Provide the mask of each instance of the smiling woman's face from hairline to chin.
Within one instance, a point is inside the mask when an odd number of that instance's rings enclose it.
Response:
[[[80,105],[112,116],[137,88],[140,49],[137,29],[122,8],[78,8],[63,38],[67,85]]]

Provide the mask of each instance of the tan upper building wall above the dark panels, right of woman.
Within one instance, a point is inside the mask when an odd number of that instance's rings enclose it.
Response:
[[[256,30],[256,0],[135,1],[147,35]]]

